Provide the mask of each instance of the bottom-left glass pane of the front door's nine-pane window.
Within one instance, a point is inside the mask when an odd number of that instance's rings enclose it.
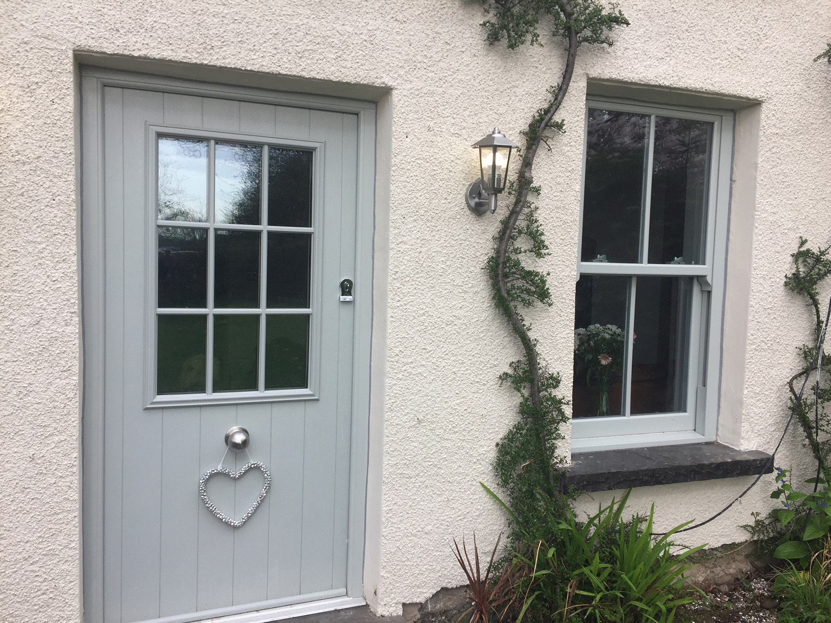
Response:
[[[160,314],[156,330],[156,391],[203,394],[208,316]]]

